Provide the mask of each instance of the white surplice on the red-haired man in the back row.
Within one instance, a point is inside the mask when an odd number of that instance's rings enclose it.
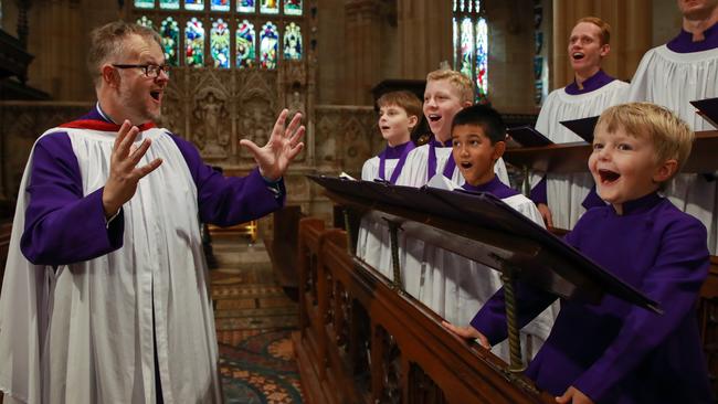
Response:
[[[541,107],[536,121],[536,130],[555,143],[584,141],[560,123],[601,115],[605,108],[623,103],[627,88],[627,83],[614,79],[603,87],[585,94],[571,95],[566,93],[566,88],[556,89],[549,94]],[[581,202],[593,185],[591,174],[548,173],[546,179],[546,192],[553,226],[566,230],[573,228],[579,217],[585,212]],[[536,182],[536,178],[534,182]]]

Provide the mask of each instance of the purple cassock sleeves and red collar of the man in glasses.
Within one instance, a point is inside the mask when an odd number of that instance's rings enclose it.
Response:
[[[108,121],[97,107],[62,127],[119,130],[119,125]],[[151,127],[154,124],[144,124],[140,131]],[[258,169],[243,178],[223,177],[202,161],[193,145],[168,135],[182,153],[197,185],[202,222],[233,225],[264,216],[284,204],[286,192],[282,180],[270,183]],[[22,253],[30,262],[57,266],[96,258],[123,246],[124,211],[105,226],[103,189],[83,195],[83,178],[66,132],[57,131],[40,139],[32,159],[28,188],[31,202],[21,241]]]

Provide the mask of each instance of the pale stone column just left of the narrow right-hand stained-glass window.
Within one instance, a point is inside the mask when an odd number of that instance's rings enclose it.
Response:
[[[442,61],[454,63],[451,1],[399,0],[398,20],[401,78],[423,79]]]

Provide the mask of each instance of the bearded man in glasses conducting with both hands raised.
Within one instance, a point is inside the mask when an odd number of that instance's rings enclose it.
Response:
[[[169,82],[159,35],[92,32],[97,104],[35,142],[20,185],[0,294],[6,403],[219,403],[200,221],[232,225],[279,209],[302,150],[284,110],[258,168],[223,177],[154,124]]]

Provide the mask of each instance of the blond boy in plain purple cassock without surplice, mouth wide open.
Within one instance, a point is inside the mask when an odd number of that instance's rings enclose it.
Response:
[[[608,202],[585,212],[566,242],[657,301],[663,313],[606,295],[561,302],[526,375],[558,403],[712,403],[695,304],[710,265],[706,227],[659,193],[685,163],[694,134],[666,108],[613,106],[599,119],[589,169]],[[518,283],[518,322],[556,301]],[[468,327],[488,348],[506,339],[503,289]]]

